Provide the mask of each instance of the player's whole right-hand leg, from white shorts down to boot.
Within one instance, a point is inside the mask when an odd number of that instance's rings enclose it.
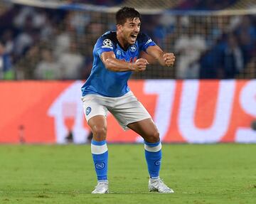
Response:
[[[146,111],[137,97],[132,92],[128,92],[123,97],[119,97],[115,107],[109,109],[117,119],[119,124],[125,129],[137,132],[144,138],[146,163],[149,170],[149,190],[156,190],[160,193],[172,193],[159,178],[161,164],[161,142],[159,131],[151,119],[149,112]]]

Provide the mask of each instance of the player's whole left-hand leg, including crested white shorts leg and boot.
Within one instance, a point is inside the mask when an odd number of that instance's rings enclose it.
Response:
[[[87,124],[92,130],[91,152],[97,174],[97,186],[92,193],[108,193],[107,108],[96,95],[87,95],[82,102]]]

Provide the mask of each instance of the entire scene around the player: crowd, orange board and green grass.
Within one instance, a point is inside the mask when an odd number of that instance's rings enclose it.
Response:
[[[112,114],[112,194],[90,194],[80,88],[122,6],[176,55],[173,68],[149,65],[129,80],[159,129],[174,196],[148,194],[144,147],[134,145],[143,140]],[[0,0],[0,203],[255,204],[255,14],[256,0]]]

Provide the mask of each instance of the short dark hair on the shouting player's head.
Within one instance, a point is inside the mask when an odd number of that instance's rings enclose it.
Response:
[[[139,18],[139,20],[141,20],[142,17],[139,14],[139,12],[136,11],[134,8],[124,6],[121,9],[119,9],[119,11],[117,11],[117,14],[116,14],[117,24],[124,25],[124,23],[127,21],[127,18],[130,18],[132,20],[134,18]]]

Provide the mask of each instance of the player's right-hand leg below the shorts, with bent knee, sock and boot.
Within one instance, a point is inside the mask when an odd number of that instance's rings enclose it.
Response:
[[[139,122],[128,124],[127,127],[134,130],[143,137],[146,163],[149,171],[149,190],[159,193],[174,193],[174,190],[166,186],[161,178],[159,171],[161,167],[161,141],[159,131],[152,119],[143,119]]]

